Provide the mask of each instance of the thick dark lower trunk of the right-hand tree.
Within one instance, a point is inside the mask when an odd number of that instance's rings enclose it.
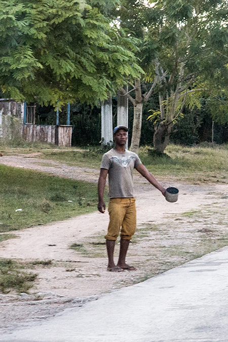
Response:
[[[160,123],[158,127],[155,128],[155,133],[153,137],[154,148],[156,151],[163,153],[166,146],[169,143],[170,134],[172,132],[172,124],[165,125],[165,123]]]

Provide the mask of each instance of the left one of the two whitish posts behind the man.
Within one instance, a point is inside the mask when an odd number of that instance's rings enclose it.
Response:
[[[103,145],[112,143],[112,104],[111,96],[101,104],[101,141]]]

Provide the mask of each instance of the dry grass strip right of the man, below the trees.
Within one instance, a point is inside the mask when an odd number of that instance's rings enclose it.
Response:
[[[148,146],[140,147],[142,163],[157,177],[199,183],[227,183],[228,149],[226,145],[184,147],[170,144],[165,155],[153,154]]]

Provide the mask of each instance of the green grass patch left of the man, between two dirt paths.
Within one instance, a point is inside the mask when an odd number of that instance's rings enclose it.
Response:
[[[1,164],[0,178],[0,232],[46,224],[96,210],[96,184]]]

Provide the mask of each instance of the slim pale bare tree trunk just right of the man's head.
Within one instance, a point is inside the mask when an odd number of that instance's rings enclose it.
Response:
[[[143,102],[137,103],[134,105],[134,121],[133,121],[130,150],[135,153],[138,153],[140,136],[141,136],[142,106],[143,106]]]

